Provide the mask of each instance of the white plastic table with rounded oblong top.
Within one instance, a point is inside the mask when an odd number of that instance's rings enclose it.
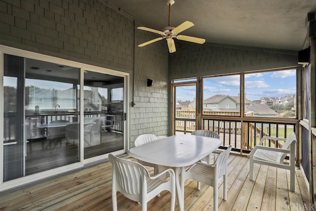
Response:
[[[179,209],[183,211],[184,181],[179,179],[180,172],[214,152],[222,143],[223,141],[218,138],[173,135],[131,148],[128,155],[148,163],[175,167],[178,204]]]

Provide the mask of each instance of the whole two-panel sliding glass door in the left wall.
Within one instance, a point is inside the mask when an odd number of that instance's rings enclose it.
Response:
[[[2,182],[124,150],[124,74],[77,65],[4,54]]]

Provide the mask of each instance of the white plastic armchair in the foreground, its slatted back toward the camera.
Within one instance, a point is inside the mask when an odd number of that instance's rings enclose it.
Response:
[[[150,176],[148,170],[139,163],[121,159],[109,154],[112,163],[112,203],[113,211],[117,211],[117,191],[125,197],[141,202],[142,211],[147,210],[147,202],[167,190],[171,193],[171,207],[175,207],[176,186],[175,174],[172,169],[166,169],[157,175]],[[159,176],[168,173],[169,180],[160,179]]]

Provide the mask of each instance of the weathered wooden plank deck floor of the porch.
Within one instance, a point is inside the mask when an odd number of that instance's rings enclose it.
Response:
[[[303,174],[296,168],[295,193],[288,191],[289,171],[255,164],[255,181],[249,180],[249,159],[231,154],[228,163],[228,200],[219,187],[219,211],[313,210]],[[150,169],[152,171],[152,169]],[[111,164],[79,170],[14,192],[0,193],[0,210],[112,210]],[[187,180],[185,210],[213,210],[213,188]],[[119,211],[138,211],[141,205],[118,193]],[[162,192],[148,210],[170,210],[170,193]],[[176,210],[178,210],[176,203]]]

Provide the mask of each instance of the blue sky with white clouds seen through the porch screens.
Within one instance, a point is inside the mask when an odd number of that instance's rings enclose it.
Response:
[[[203,99],[216,94],[238,96],[240,76],[220,76],[203,79]],[[245,93],[248,100],[259,100],[260,97],[283,97],[296,94],[296,70],[283,70],[245,74]],[[196,95],[195,86],[176,88],[176,99],[193,101]]]

